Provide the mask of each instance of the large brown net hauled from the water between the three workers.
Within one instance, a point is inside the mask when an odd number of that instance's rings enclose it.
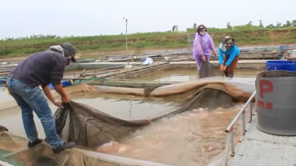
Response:
[[[215,67],[204,65],[210,73]],[[214,73],[211,71],[211,73]],[[219,72],[221,74],[221,72]],[[207,76],[207,74],[203,74]],[[123,86],[119,87],[122,84]],[[107,86],[106,86],[107,85]],[[114,85],[114,86],[112,86]],[[135,85],[135,86],[134,86]],[[238,81],[225,77],[207,77],[195,81],[173,84],[148,84],[92,79],[83,85],[84,92],[117,93],[149,97],[166,97],[183,101],[162,115],[141,120],[123,120],[110,116],[96,108],[71,101],[55,113],[57,133],[65,141],[74,141],[86,147],[98,147],[110,141],[120,142],[130,132],[162,117],[173,116],[196,108],[229,107],[234,101],[245,101],[253,93],[253,81]]]

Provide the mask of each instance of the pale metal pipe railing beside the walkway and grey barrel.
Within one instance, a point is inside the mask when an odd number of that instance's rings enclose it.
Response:
[[[249,100],[243,105],[243,107],[240,109],[240,112],[234,117],[234,119],[230,122],[228,127],[226,128],[225,132],[227,133],[227,140],[226,140],[226,148],[225,148],[225,156],[223,157],[223,164],[222,166],[226,166],[227,161],[228,161],[228,150],[229,146],[231,146],[231,156],[235,155],[235,145],[234,145],[234,133],[233,133],[233,128],[238,119],[242,118],[242,135],[246,133],[246,122],[245,122],[245,109],[247,106],[250,106],[250,120],[249,122],[252,122],[252,117],[253,117],[253,107],[252,107],[252,100],[256,95],[256,90],[254,93],[251,95]]]

